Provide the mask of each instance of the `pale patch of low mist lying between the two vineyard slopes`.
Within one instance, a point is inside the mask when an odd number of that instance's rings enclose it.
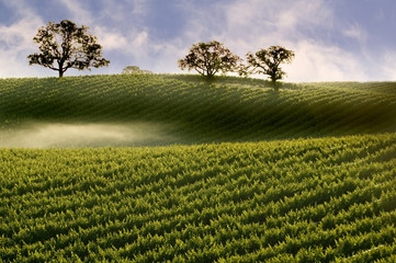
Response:
[[[166,145],[170,125],[157,123],[24,123],[0,129],[0,148],[81,148]]]

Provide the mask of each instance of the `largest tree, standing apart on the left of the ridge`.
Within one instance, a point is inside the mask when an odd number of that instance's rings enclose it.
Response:
[[[41,53],[27,56],[30,65],[56,70],[59,78],[69,68],[83,70],[108,66],[110,61],[102,57],[102,46],[88,30],[88,26],[78,27],[69,20],[47,23],[33,38],[33,42],[39,45]]]

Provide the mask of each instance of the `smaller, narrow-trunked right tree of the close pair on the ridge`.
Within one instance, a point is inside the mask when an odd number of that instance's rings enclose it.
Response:
[[[292,62],[295,54],[282,46],[270,46],[267,49],[260,49],[256,54],[248,53],[246,56],[252,72],[268,75],[274,84],[274,89],[278,90],[276,81],[286,75],[280,65]]]

